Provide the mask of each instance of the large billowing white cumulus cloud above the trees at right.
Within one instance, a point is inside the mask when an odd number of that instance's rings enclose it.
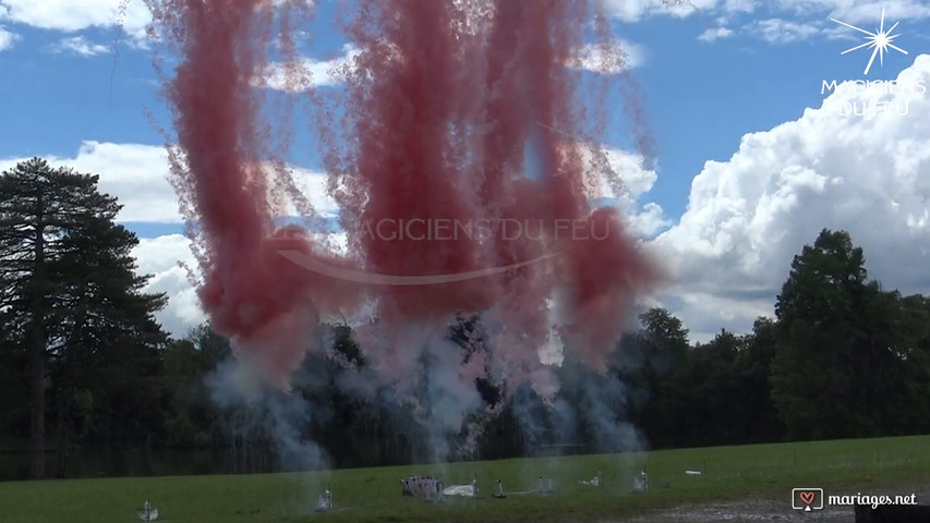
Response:
[[[898,77],[917,80],[930,85],[930,56]],[[697,339],[722,327],[747,331],[773,314],[792,258],[823,228],[849,231],[886,288],[930,292],[930,93],[853,87],[797,121],[744,136],[728,161],[709,161],[680,221],[651,242],[674,275],[663,303]],[[891,112],[842,114],[846,104],[878,100]],[[896,114],[905,102],[907,114]]]

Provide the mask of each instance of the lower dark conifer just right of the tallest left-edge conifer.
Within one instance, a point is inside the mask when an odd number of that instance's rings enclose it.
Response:
[[[145,427],[135,429],[138,436],[158,425],[150,411],[159,397],[155,377],[167,336],[154,315],[167,299],[142,291],[148,277],[136,275],[131,253],[138,241],[113,223],[119,207],[108,207],[83,217],[80,227],[61,239],[60,256],[49,263],[49,273],[59,283],[51,315],[67,329],[51,353],[59,378],[55,384],[59,476],[68,466],[75,397],[94,392],[95,417],[106,421],[107,434],[130,437],[132,425]]]

